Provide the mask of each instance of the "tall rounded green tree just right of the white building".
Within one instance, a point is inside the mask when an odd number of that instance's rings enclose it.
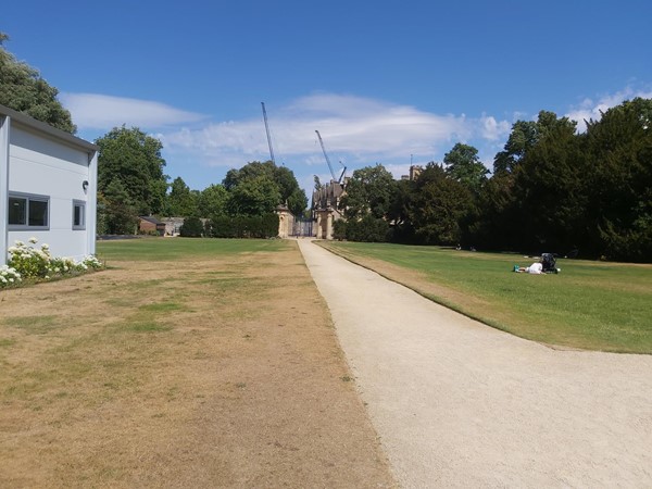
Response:
[[[118,179],[139,214],[163,211],[167,176],[163,174],[163,145],[137,127],[114,127],[96,140],[98,156],[98,190]]]

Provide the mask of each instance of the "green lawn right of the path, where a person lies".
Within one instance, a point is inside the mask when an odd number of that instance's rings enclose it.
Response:
[[[652,353],[652,265],[560,259],[561,274],[537,276],[512,272],[515,264],[532,263],[522,255],[387,243],[325,246],[352,261],[371,258],[419,272],[418,279],[400,274],[393,278],[412,281],[405,285],[524,338],[568,348]],[[385,274],[392,278],[391,272]],[[434,292],[429,284],[455,293]]]

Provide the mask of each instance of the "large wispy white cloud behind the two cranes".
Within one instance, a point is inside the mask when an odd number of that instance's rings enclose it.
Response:
[[[375,163],[405,165],[435,160],[457,141],[496,140],[509,134],[506,121],[482,115],[432,114],[409,105],[368,98],[316,93],[275,108],[267,105],[277,163],[324,165],[315,129],[334,164],[349,167]],[[262,120],[213,123],[200,129],[159,135],[171,151],[192,152],[210,165],[242,165],[268,159]]]

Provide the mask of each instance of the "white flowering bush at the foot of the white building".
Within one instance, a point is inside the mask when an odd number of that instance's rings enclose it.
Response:
[[[47,243],[36,248],[38,240],[29,238],[30,244],[16,241],[9,249],[8,265],[2,267],[0,288],[11,287],[23,278],[49,280],[53,277],[79,274],[89,269],[101,269],[104,265],[95,256],[86,256],[80,262],[71,258],[52,256]]]

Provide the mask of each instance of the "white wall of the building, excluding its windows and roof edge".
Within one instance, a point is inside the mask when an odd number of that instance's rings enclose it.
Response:
[[[12,122],[9,137],[9,193],[47,196],[48,230],[8,230],[7,246],[15,240],[48,243],[54,256],[80,260],[95,253],[97,156],[50,135]],[[84,188],[84,181],[88,186]],[[73,229],[73,201],[85,203],[86,229]],[[8,200],[3,202],[3,208]],[[7,218],[7,212],[4,213]],[[4,262],[2,262],[4,263]]]

